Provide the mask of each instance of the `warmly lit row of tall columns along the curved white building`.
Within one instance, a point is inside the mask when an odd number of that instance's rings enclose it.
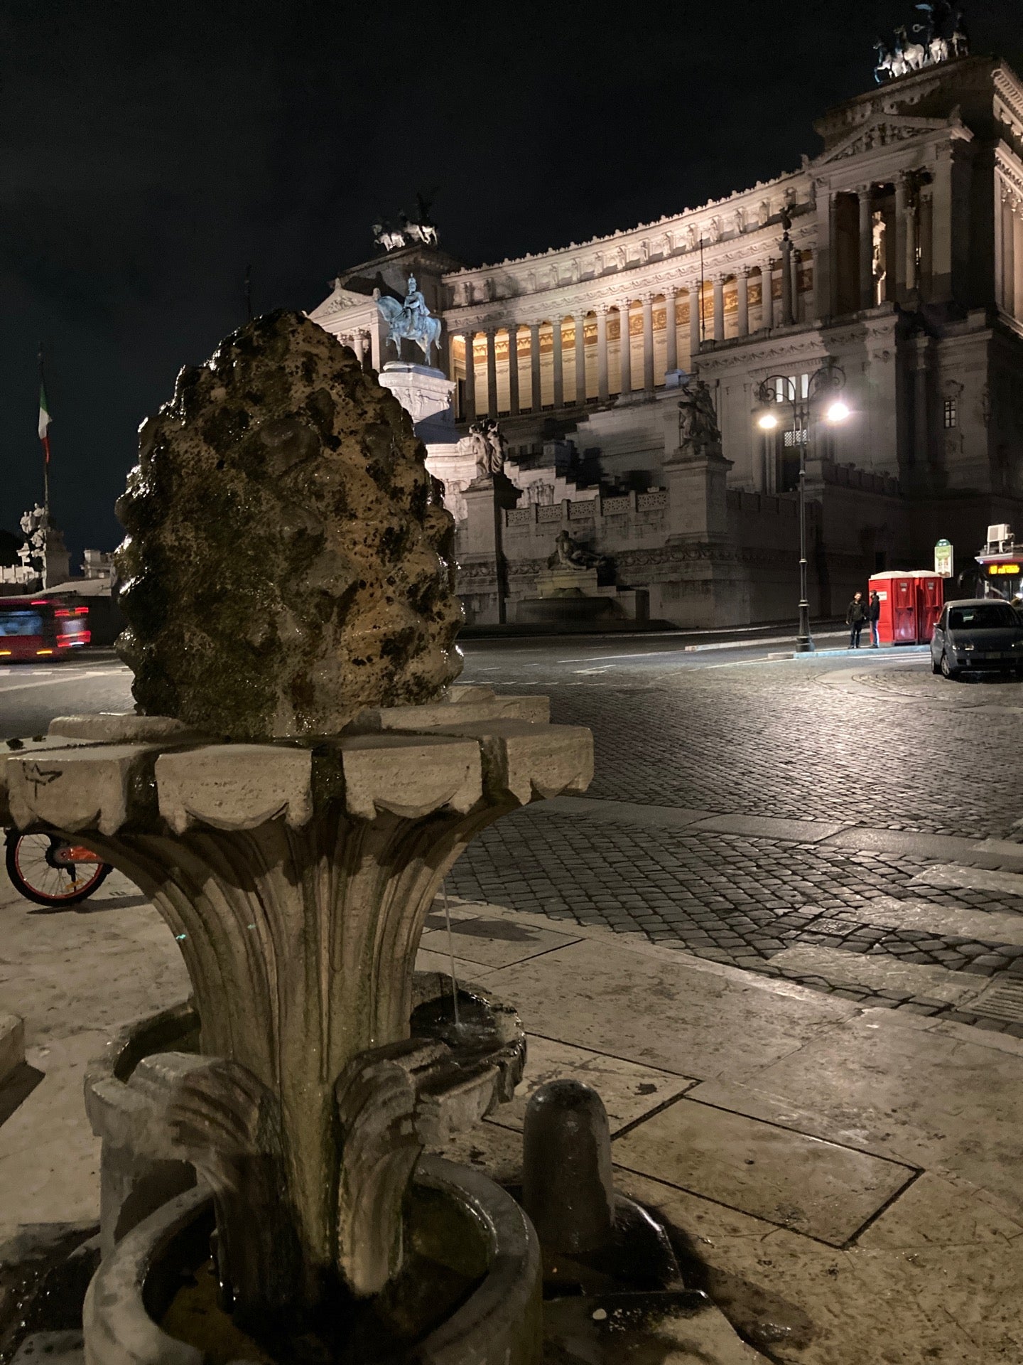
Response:
[[[731,337],[750,334],[750,277],[760,277],[761,300],[758,326],[773,328],[795,321],[794,300],[798,296],[799,261],[795,251],[786,250],[780,259],[765,259],[758,265],[743,266],[737,273],[717,274],[702,281],[702,298],[698,284],[683,289],[667,289],[663,293],[647,292],[638,299],[627,299],[615,304],[600,304],[574,317],[554,321],[517,324],[481,329],[484,339],[483,356],[477,340],[480,332],[465,330],[462,339],[465,355],[465,379],[462,390],[461,416],[473,420],[477,415],[496,418],[507,412],[510,416],[521,411],[540,408],[582,407],[588,401],[607,403],[612,393],[633,393],[637,389],[652,394],[657,385],[659,356],[655,351],[655,308],[663,299],[666,310],[664,328],[664,373],[679,366],[678,345],[678,302],[689,296],[689,356],[692,366],[707,341],[724,341]],[[1023,258],[1022,258],[1023,259]],[[776,306],[773,280],[776,270],[782,273],[782,298]],[[734,308],[726,307],[726,292],[734,293]],[[709,298],[708,298],[709,295]],[[612,333],[608,318],[618,315],[618,373],[612,371],[610,341]],[[734,319],[732,319],[734,313]],[[587,324],[591,324],[592,343],[587,340]],[[566,328],[566,324],[570,328]],[[638,326],[637,326],[638,324]],[[550,362],[540,355],[542,332],[550,329]],[[520,366],[520,340],[529,334],[529,401],[522,403],[522,374]],[[656,329],[660,332],[660,329]],[[498,400],[498,333],[507,334],[507,374],[502,385],[506,401]],[[595,334],[593,334],[595,333]],[[567,337],[572,337],[570,343]],[[638,355],[634,355],[638,340]],[[546,349],[546,348],[544,348]],[[657,348],[659,349],[659,348]],[[572,388],[566,392],[566,360],[572,363]],[[483,364],[480,364],[483,360]],[[451,356],[451,377],[454,378],[454,358]],[[486,375],[486,389],[479,392],[477,373]],[[617,385],[612,382],[617,379]]]

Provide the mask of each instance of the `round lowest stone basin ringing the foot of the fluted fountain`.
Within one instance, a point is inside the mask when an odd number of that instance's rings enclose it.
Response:
[[[207,1257],[211,1226],[209,1192],[187,1190],[139,1223],[104,1259],[85,1301],[86,1365],[277,1365],[288,1360],[288,1354],[255,1347],[217,1309],[190,1316],[183,1308],[177,1290]],[[436,1294],[456,1304],[426,1330],[421,1298],[417,1305],[390,1305],[379,1360],[389,1365],[400,1360],[416,1365],[539,1361],[540,1249],[529,1220],[509,1194],[477,1171],[423,1156],[412,1181],[409,1242],[419,1256],[413,1279],[421,1280],[424,1267],[438,1267]],[[188,1332],[192,1340],[170,1335],[169,1327]],[[356,1325],[352,1360],[371,1365],[367,1332],[372,1335],[364,1323]],[[306,1349],[316,1347],[306,1343]],[[345,1361],[345,1353],[322,1358]]]

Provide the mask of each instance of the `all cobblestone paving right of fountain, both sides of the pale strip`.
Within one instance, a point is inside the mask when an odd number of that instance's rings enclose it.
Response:
[[[562,644],[562,652],[570,652]],[[929,659],[737,662],[660,659],[569,669],[502,661],[502,689],[550,693],[552,718],[596,740],[591,797],[848,826],[1019,837],[1023,687],[949,684]],[[466,681],[491,681],[477,667]],[[929,850],[930,852],[930,850]],[[450,890],[677,943],[700,957],[786,975],[873,1005],[941,1013],[1023,1036],[1023,1022],[982,1018],[906,988],[847,988],[772,965],[797,945],[899,960],[1023,986],[1023,946],[948,932],[892,930],[857,917],[881,897],[938,909],[1019,916],[1023,894],[910,886],[933,857],[850,852],[795,839],[651,829],[533,807],[487,830],[456,865]],[[1020,878],[1023,891],[1023,878]],[[1013,935],[1015,936],[1015,935]],[[1023,945],[1023,935],[1020,935]],[[955,980],[962,980],[962,975]],[[979,983],[982,984],[982,983]]]

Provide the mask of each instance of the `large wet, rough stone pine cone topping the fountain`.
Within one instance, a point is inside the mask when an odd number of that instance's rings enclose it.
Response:
[[[235,740],[337,733],[461,672],[453,521],[398,401],[297,313],[184,369],[117,515],[143,714]]]

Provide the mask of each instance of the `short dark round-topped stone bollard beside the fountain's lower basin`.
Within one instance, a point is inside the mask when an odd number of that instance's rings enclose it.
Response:
[[[544,1250],[596,1252],[611,1241],[611,1130],[604,1102],[589,1085],[548,1081],[532,1095],[522,1129],[522,1204]]]

